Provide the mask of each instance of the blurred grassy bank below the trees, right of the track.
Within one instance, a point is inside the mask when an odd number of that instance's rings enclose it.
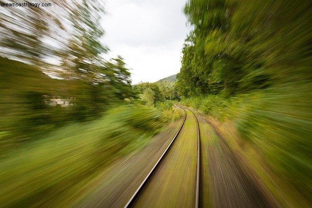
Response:
[[[312,196],[311,83],[235,97],[182,99],[206,114],[279,203],[309,207]]]

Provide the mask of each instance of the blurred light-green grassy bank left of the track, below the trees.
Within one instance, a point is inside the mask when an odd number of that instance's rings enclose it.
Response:
[[[112,108],[90,123],[60,127],[1,158],[0,204],[47,205],[83,188],[122,155],[146,144],[179,116],[168,107],[126,105]]]

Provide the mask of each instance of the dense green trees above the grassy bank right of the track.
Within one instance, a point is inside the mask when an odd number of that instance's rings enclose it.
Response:
[[[190,0],[194,30],[182,49],[177,87],[183,96],[230,95],[310,81],[309,0]]]

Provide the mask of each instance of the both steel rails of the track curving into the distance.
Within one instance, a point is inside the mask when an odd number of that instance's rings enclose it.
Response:
[[[152,167],[152,169],[149,171],[149,173],[146,175],[146,177],[144,178],[144,180],[142,181],[142,183],[137,187],[136,191],[134,192],[134,194],[131,196],[131,198],[128,200],[128,202],[126,203],[126,205],[124,206],[124,208],[129,208],[129,207],[134,207],[134,205],[136,204],[137,200],[141,197],[142,193],[144,191],[148,191],[148,190],[145,190],[147,189],[146,187],[149,186],[149,184],[151,183],[151,181],[153,180],[153,178],[155,178],[156,176],[156,172],[158,171],[158,174],[163,174],[161,173],[161,170],[159,169],[163,169],[163,168],[159,168],[159,166],[163,165],[166,160],[166,157],[168,157],[168,154],[170,151],[174,151],[177,150],[176,148],[178,147],[173,147],[174,146],[174,143],[176,141],[176,138],[178,139],[182,139],[181,137],[183,135],[179,135],[180,132],[181,132],[181,129],[183,129],[183,126],[185,125],[186,123],[186,120],[187,120],[187,117],[189,117],[187,114],[187,111],[190,111],[192,112],[194,118],[195,118],[195,121],[196,121],[196,131],[197,131],[197,160],[196,160],[196,173],[194,174],[195,175],[195,178],[196,178],[196,182],[195,182],[195,204],[194,204],[194,207],[195,208],[198,208],[199,207],[199,186],[200,186],[200,134],[199,134],[199,125],[198,125],[198,121],[197,121],[197,117],[195,115],[195,113],[193,111],[191,111],[189,108],[187,107],[184,107],[184,106],[179,106],[183,111],[184,111],[184,120],[183,120],[183,123],[182,125],[179,127],[176,135],[174,136],[174,138],[172,139],[172,141],[170,142],[170,144],[167,146],[167,148],[165,149],[165,151],[162,153],[162,155],[160,156],[160,158],[157,160],[156,164]],[[189,119],[190,120],[190,119]],[[185,127],[187,128],[187,127]],[[186,131],[186,129],[183,129],[184,131]],[[191,138],[193,139],[193,138]],[[182,158],[181,158],[182,159]],[[169,166],[170,167],[170,166]],[[168,176],[169,177],[169,176]],[[157,180],[157,179],[155,179]],[[171,184],[172,186],[175,186],[175,184]],[[161,186],[161,185],[160,185]],[[155,189],[152,189],[151,191],[154,191]],[[155,191],[154,191],[155,192]],[[193,192],[193,191],[192,191]],[[154,194],[154,193],[152,193]],[[155,193],[157,194],[157,193]],[[193,197],[192,196],[193,194],[189,194],[189,197]],[[176,198],[176,197],[175,197]],[[175,199],[176,200],[176,199]]]

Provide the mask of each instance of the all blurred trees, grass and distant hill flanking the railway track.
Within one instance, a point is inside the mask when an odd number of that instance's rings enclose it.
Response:
[[[51,2],[0,7],[1,206],[83,187],[179,118],[180,98],[234,124],[288,187],[265,181],[274,193],[311,202],[311,0],[188,0],[180,72],[133,87],[122,57],[103,58],[103,2]]]

